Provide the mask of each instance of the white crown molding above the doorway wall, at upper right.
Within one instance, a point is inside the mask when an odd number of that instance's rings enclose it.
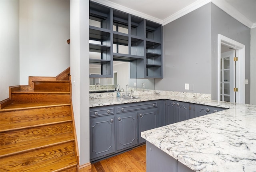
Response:
[[[234,19],[238,20],[238,22],[241,22],[248,28],[252,28],[252,26],[255,24],[252,23],[248,18],[246,18],[243,14],[241,14],[236,8],[228,4],[226,1],[220,1],[220,0],[212,0],[212,3],[218,6],[220,9],[222,9],[224,12],[232,16]]]

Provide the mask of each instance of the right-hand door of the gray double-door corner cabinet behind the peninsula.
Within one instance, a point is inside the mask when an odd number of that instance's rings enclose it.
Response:
[[[188,120],[190,118],[189,103],[176,102],[176,119],[175,122]]]

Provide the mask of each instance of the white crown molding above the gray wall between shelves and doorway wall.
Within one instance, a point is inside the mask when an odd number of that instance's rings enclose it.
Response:
[[[165,18],[162,21],[162,25],[166,25],[198,8],[200,8],[201,6],[204,6],[205,4],[208,4],[209,2],[211,2],[211,0],[197,0],[196,2],[193,2],[192,4],[186,6],[185,8],[183,8],[182,10],[172,14],[171,16]]]

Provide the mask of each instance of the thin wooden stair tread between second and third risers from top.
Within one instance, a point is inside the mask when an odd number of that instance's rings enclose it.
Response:
[[[67,106],[71,104],[60,104],[60,103],[12,103],[4,108],[0,109],[0,112],[10,111],[10,110],[23,110],[31,108],[42,108],[42,107],[53,107],[53,106]]]

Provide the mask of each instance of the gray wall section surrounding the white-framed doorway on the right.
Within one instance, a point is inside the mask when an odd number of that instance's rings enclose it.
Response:
[[[250,81],[250,28],[211,3],[212,99],[218,99],[218,34],[245,45],[245,78]],[[245,103],[250,103],[250,84],[245,85]]]

